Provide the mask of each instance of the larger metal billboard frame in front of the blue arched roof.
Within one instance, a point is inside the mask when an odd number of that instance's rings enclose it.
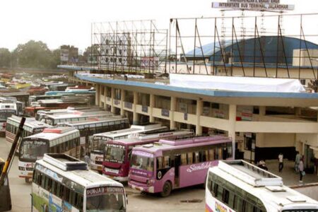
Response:
[[[301,70],[309,69],[311,78],[317,79],[318,52],[313,53],[308,47],[312,43],[318,45],[317,18],[318,13],[171,18],[169,72],[215,75],[223,69],[223,75],[232,76],[235,66],[242,70],[242,76],[247,76],[248,65],[252,67],[252,76],[256,76],[256,69],[261,69],[264,77],[282,77],[279,74],[283,69],[283,77],[292,78],[290,70],[298,69],[296,78],[302,78]],[[293,25],[286,24],[288,21]],[[271,46],[273,55],[269,55],[266,37],[275,37],[275,47]],[[299,48],[294,48],[292,55],[285,44],[288,38],[299,42]],[[254,39],[252,45],[247,45],[251,39]],[[269,76],[269,69],[276,69],[276,74]]]

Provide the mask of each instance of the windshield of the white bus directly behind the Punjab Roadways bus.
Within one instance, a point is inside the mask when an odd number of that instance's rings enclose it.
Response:
[[[20,145],[20,160],[37,160],[47,153],[46,141],[22,141]]]

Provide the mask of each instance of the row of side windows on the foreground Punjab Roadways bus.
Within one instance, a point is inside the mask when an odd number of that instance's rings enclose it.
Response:
[[[67,201],[80,211],[83,211],[83,194],[74,192],[64,184],[55,181],[38,170],[35,170],[33,174],[33,182],[60,199]]]

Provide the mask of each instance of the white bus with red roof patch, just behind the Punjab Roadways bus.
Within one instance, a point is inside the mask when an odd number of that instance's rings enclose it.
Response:
[[[25,182],[32,177],[35,160],[41,159],[44,153],[66,153],[80,158],[81,145],[78,129],[71,127],[47,128],[40,134],[22,139],[19,147],[19,177]]]

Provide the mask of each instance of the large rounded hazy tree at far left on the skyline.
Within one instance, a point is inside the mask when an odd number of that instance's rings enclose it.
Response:
[[[13,55],[16,57],[17,66],[21,68],[55,69],[57,66],[54,65],[59,61],[42,41],[30,40],[23,45],[18,45]]]

